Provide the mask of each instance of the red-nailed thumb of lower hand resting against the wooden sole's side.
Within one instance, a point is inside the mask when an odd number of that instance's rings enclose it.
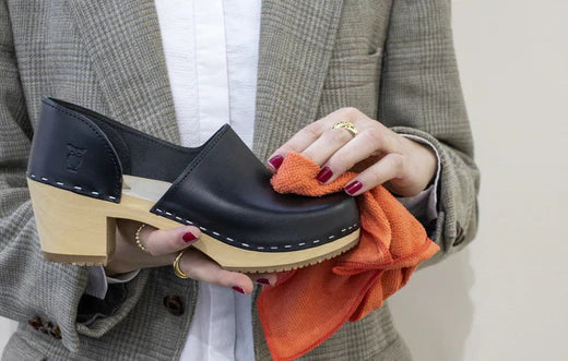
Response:
[[[146,225],[140,231],[140,242],[153,256],[178,252],[199,240],[201,231],[194,226],[157,229]]]

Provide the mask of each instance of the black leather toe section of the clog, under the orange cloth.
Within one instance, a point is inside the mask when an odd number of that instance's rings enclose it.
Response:
[[[355,198],[281,194],[272,173],[225,124],[151,212],[199,225],[244,249],[295,251],[341,238],[358,227]]]

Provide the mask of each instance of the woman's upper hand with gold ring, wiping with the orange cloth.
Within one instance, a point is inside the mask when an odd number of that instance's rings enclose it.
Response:
[[[332,129],[351,121],[359,133]],[[298,131],[269,158],[275,171],[288,152],[296,152],[323,167],[318,180],[327,184],[341,173],[358,172],[345,192],[358,195],[379,184],[400,196],[413,196],[434,178],[437,158],[426,145],[399,135],[355,108],[342,108]]]

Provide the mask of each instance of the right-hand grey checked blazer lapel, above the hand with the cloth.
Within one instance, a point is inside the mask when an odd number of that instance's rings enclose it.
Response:
[[[313,121],[343,0],[263,0],[252,151],[261,160]]]

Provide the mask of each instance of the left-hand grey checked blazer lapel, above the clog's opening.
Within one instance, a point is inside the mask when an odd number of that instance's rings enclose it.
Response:
[[[70,1],[111,116],[179,144],[153,1]]]

